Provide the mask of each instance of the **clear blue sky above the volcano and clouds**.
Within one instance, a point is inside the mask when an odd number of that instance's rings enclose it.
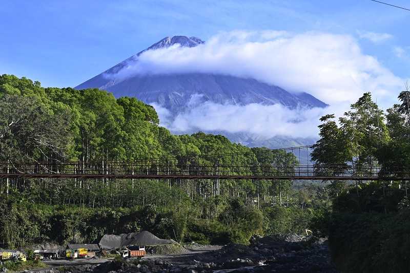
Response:
[[[410,8],[407,0],[386,2]],[[347,34],[410,77],[410,11],[345,1],[2,1],[0,74],[76,86],[165,36],[221,31]],[[303,46],[303,45],[301,45]]]

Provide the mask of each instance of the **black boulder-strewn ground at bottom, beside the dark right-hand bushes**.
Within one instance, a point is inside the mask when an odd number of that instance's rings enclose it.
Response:
[[[325,241],[312,243],[295,235],[253,237],[249,246],[227,245],[202,261],[218,272],[337,272]]]

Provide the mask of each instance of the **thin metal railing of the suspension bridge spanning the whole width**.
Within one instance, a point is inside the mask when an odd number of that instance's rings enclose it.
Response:
[[[336,170],[336,171],[335,171]],[[0,178],[4,177],[78,177],[78,178],[212,178],[212,179],[308,179],[371,180],[409,177],[409,170],[379,167],[313,166],[313,165],[215,165],[157,164],[140,162],[0,162]]]

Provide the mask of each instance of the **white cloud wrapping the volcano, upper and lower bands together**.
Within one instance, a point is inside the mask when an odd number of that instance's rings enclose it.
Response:
[[[118,81],[136,74],[190,72],[251,77],[291,92],[310,93],[331,104],[325,109],[297,110],[279,104],[198,104],[198,95],[186,112],[175,117],[154,105],[161,124],[174,132],[248,132],[264,138],[317,136],[320,116],[341,116],[367,91],[386,109],[396,101],[404,82],[377,58],[364,54],[350,35],[284,31],[220,33],[195,48],[174,45],[147,51],[118,74],[108,76]]]

